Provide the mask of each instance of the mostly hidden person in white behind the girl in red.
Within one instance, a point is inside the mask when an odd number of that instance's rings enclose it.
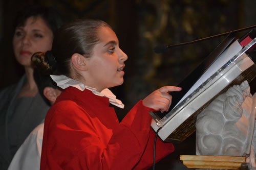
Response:
[[[31,63],[33,66],[33,62]],[[61,93],[60,88],[51,77],[40,73],[34,68],[34,80],[38,92],[46,103],[53,105],[57,96]],[[14,155],[8,170],[39,170],[42,149],[42,136],[44,134],[44,122],[39,124],[26,138]]]

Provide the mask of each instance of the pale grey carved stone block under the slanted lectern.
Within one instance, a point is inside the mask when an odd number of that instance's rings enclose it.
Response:
[[[256,145],[255,107],[247,81],[219,95],[197,116],[196,155],[249,156]]]

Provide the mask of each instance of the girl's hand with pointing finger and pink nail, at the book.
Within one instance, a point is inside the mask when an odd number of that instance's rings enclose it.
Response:
[[[146,96],[143,100],[143,105],[155,110],[160,110],[161,113],[163,113],[164,111],[169,110],[170,104],[172,104],[172,95],[170,95],[169,92],[180,90],[181,87],[176,86],[161,87]]]

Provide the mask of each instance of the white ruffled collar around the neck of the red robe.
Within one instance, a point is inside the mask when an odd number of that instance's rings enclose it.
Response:
[[[105,88],[103,89],[101,92],[98,92],[96,90],[96,88],[92,88],[89,86],[85,86],[84,84],[82,84],[81,82],[71,79],[67,76],[64,75],[60,75],[60,76],[56,76],[56,75],[50,75],[50,77],[52,78],[52,80],[57,83],[57,86],[59,86],[62,89],[68,88],[69,86],[75,87],[81,91],[83,91],[84,89],[88,89],[91,90],[95,95],[99,95],[99,96],[105,96],[106,98],[109,98],[109,102],[112,105],[115,105],[117,107],[120,108],[124,108],[124,104],[122,104],[122,101],[116,99],[115,94],[112,93],[112,91],[110,91],[110,89]]]

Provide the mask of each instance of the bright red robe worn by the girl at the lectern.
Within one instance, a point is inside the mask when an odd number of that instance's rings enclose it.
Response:
[[[119,123],[109,99],[65,89],[45,119],[40,169],[146,169],[153,164],[151,108],[139,101]],[[156,144],[156,162],[174,151]]]

